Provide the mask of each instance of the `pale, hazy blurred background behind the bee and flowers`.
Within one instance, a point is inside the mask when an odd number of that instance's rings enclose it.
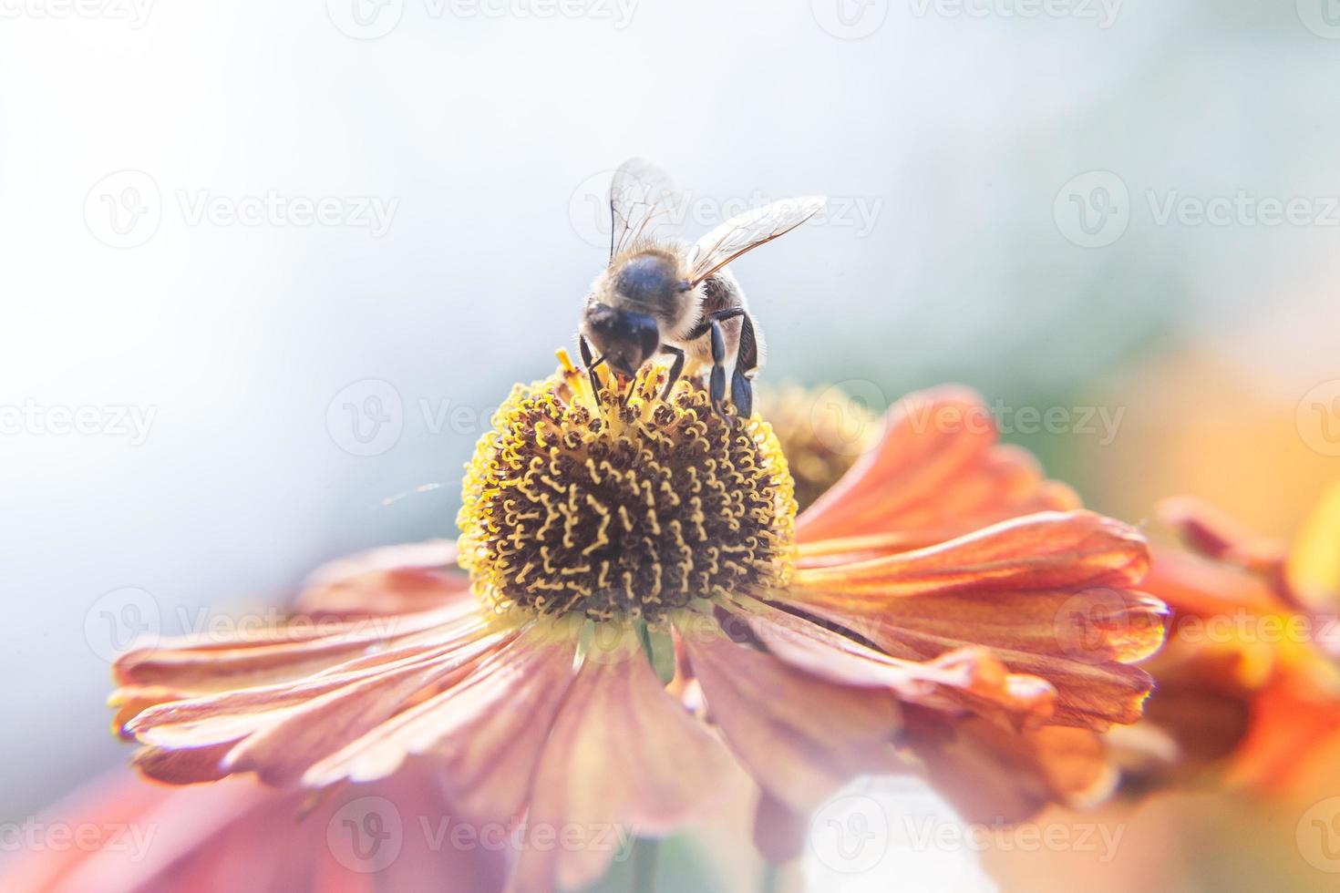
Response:
[[[1286,536],[1340,477],[1331,0],[0,16],[0,821],[127,758],[103,700],[135,631],[453,536],[492,407],[574,345],[634,154],[690,238],[831,197],[734,266],[764,383],[965,382],[1136,523],[1189,493]],[[1225,853],[1333,878],[1297,811],[1241,809],[1177,885],[1222,889]]]

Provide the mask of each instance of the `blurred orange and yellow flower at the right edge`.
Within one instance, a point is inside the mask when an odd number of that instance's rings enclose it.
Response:
[[[1292,548],[1195,499],[1159,514],[1187,549],[1156,548],[1146,581],[1174,620],[1143,726],[1170,760],[1284,790],[1340,748],[1340,485]]]

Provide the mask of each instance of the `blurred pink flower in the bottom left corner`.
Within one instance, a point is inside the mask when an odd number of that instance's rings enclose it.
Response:
[[[32,819],[7,893],[338,893],[500,889],[507,833],[461,834],[436,773],[280,791],[251,779],[163,787],[109,774]],[[454,838],[452,835],[456,835]],[[452,842],[456,845],[452,845]]]

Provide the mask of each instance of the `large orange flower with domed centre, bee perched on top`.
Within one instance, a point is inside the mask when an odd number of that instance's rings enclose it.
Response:
[[[1130,664],[1163,637],[1135,530],[1077,510],[955,388],[900,403],[797,521],[769,426],[690,382],[661,400],[663,376],[596,395],[565,363],[519,386],[457,546],[326,569],[310,623],[123,656],[137,766],[326,790],[413,759],[477,821],[643,835],[736,764],[764,830],[909,762],[978,815],[1107,789],[1093,732],[1140,716]],[[1067,635],[1096,604],[1096,635]],[[610,857],[523,846],[513,882],[578,886]]]

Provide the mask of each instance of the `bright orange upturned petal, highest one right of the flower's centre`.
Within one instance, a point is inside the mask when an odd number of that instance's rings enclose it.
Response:
[[[962,387],[911,394],[888,411],[879,443],[796,521],[801,542],[871,533],[947,540],[1002,518],[1079,505],[1036,461],[997,444],[981,398]]]

